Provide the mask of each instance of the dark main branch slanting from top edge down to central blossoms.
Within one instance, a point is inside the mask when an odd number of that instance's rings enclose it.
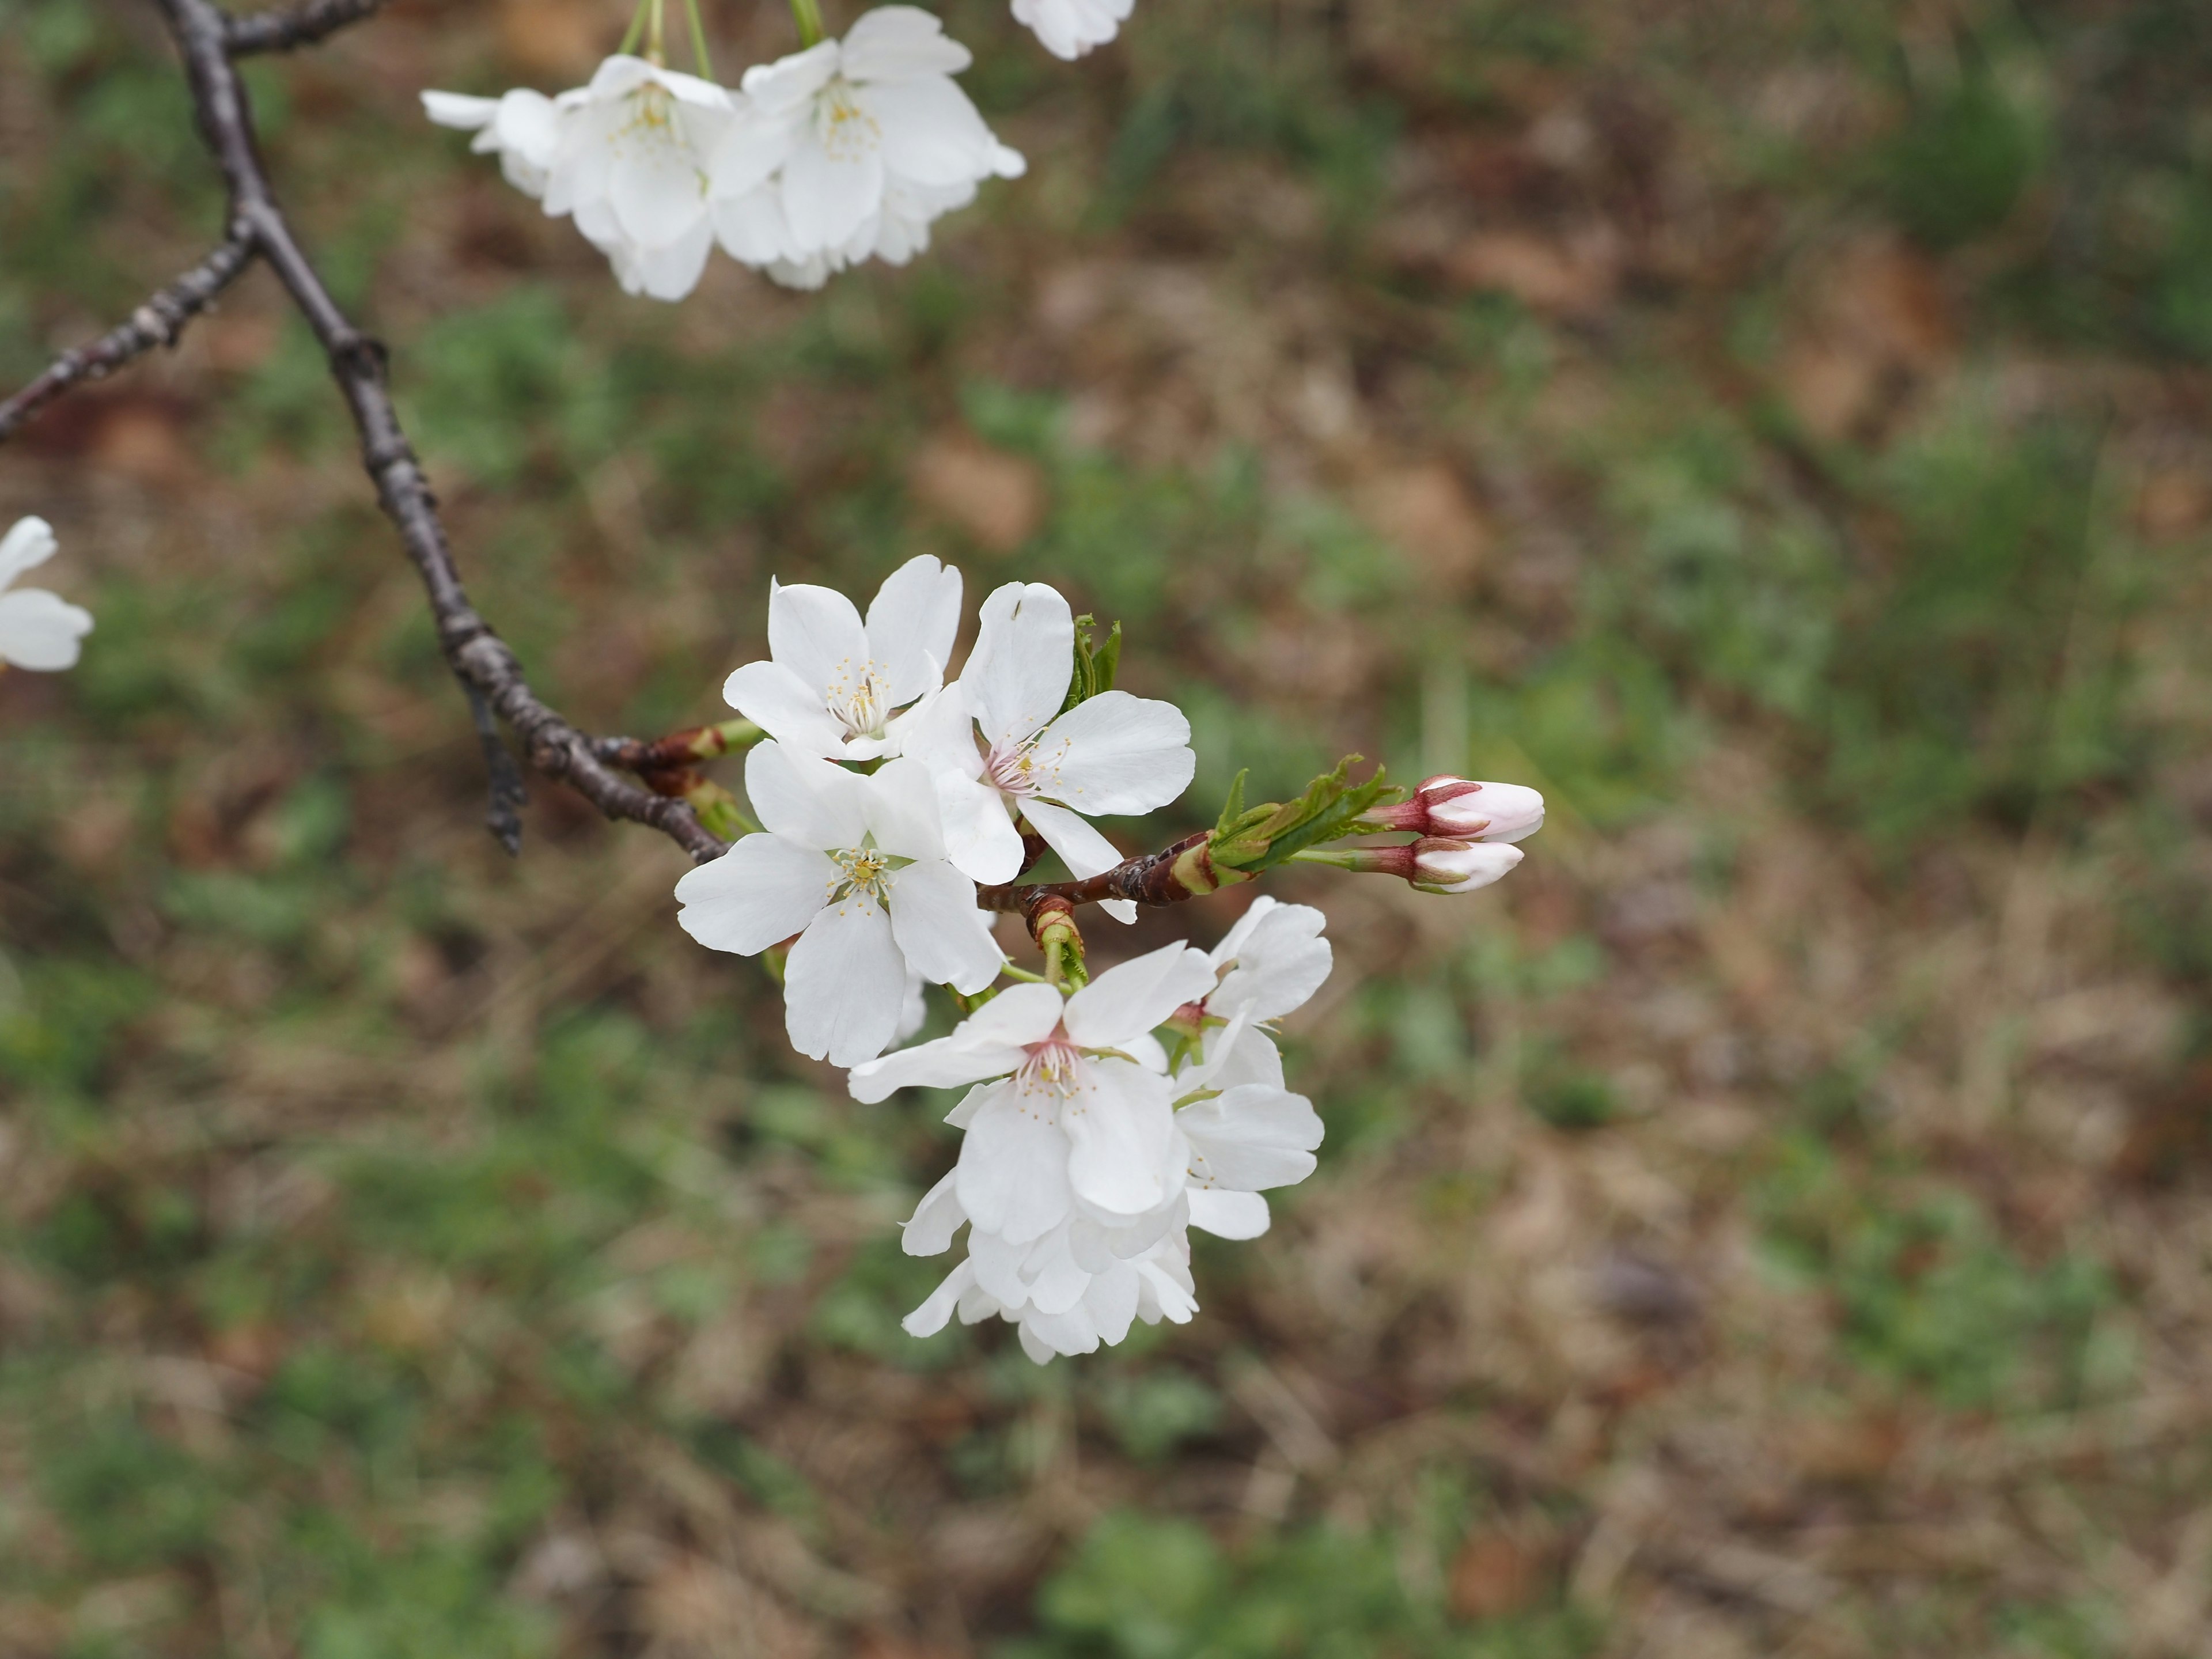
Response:
[[[646,823],[672,838],[697,863],[717,858],[726,843],[708,834],[684,801],[675,801],[653,790],[639,787],[615,774],[593,750],[593,741],[555,714],[531,690],[522,677],[515,655],[469,604],[469,593],[453,566],[453,553],[445,540],[445,524],[438,520],[438,504],[431,498],[429,480],[416,460],[407,434],[400,429],[398,411],[385,383],[385,347],[363,334],[338,310],[321,274],[310,263],[292,234],[292,226],[276,204],[261,153],[254,142],[252,106],[246,86],[230,62],[230,51],[259,49],[239,44],[243,38],[265,44],[296,44],[316,38],[314,31],[341,27],[354,15],[367,15],[374,7],[338,4],[338,0],[316,0],[292,13],[268,13],[276,18],[268,29],[254,29],[261,20],[234,22],[210,0],[155,0],[168,20],[177,49],[184,55],[186,80],[192,91],[192,111],[199,117],[199,133],[223,170],[230,188],[232,237],[250,246],[270,263],[307,327],[314,330],[323,354],[330,358],[330,374],[338,383],[354,429],[361,434],[361,460],[376,482],[378,502],[398,529],[400,544],[422,577],[429,595],[431,617],[438,624],[438,646],[462,686],[480,697],[507,721],[515,734],[524,759],[546,776],[562,779],[599,807],[608,818],[630,818]],[[343,13],[343,15],[341,15]],[[507,823],[502,816],[513,810],[509,779],[493,770],[493,830]]]

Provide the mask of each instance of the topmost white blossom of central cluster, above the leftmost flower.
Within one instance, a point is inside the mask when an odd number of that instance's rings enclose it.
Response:
[[[779,743],[838,761],[896,754],[898,710],[938,690],[960,633],[960,571],[927,553],[876,591],[867,622],[836,588],[768,586],[768,661],[721,695]]]

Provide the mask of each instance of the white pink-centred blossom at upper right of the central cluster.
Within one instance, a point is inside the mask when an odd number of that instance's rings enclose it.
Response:
[[[945,845],[980,883],[1020,874],[1015,814],[1077,878],[1097,876],[1121,854],[1086,818],[1152,812],[1190,787],[1197,757],[1183,712],[1110,690],[1062,714],[1073,661],[1068,602],[1042,582],[1009,582],[982,604],[960,701],[947,695],[916,721],[909,743],[938,779]],[[1137,918],[1126,900],[1104,909]]]

